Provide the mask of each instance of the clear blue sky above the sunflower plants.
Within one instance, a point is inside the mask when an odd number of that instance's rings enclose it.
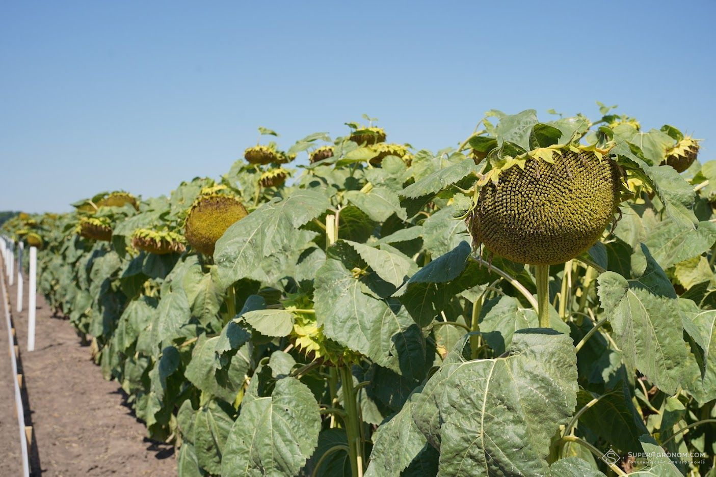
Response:
[[[2,0],[0,210],[168,193],[226,172],[258,126],[289,147],[364,112],[438,149],[488,109],[600,100],[716,159],[715,19],[713,0]]]

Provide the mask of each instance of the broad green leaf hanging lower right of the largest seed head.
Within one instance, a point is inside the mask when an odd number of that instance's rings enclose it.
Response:
[[[627,280],[614,272],[599,275],[599,300],[628,368],[638,368],[664,393],[676,392],[687,358],[676,292],[664,271],[642,246],[644,274]]]

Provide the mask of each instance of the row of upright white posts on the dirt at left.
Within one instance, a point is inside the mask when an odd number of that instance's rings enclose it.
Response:
[[[10,286],[15,282],[15,268],[17,268],[17,313],[22,311],[22,304],[24,301],[23,287],[24,280],[22,279],[22,254],[24,252],[24,244],[18,242],[15,244],[14,241],[9,240],[6,237],[2,237],[0,240],[0,252],[4,257],[5,262],[5,275]],[[15,252],[17,253],[17,260],[15,260]],[[30,267],[29,267],[29,293],[27,294],[27,350],[34,351],[35,349],[35,313],[37,309],[37,247],[30,247]],[[17,267],[15,266],[17,263]]]

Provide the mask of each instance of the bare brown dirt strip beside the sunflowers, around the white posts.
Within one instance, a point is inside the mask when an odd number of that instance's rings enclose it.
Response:
[[[29,289],[26,280],[24,288]],[[120,385],[102,378],[100,368],[90,360],[89,347],[80,345],[67,319],[52,315],[42,296],[37,297],[35,350],[27,351],[26,296],[25,310],[17,313],[16,286],[7,289],[37,447],[32,475],[175,476],[173,447],[145,438],[145,426],[127,407]],[[4,328],[4,317],[2,321]],[[3,330],[0,336],[4,356],[6,333]],[[0,455],[8,458],[3,459],[0,476],[17,476],[21,475],[14,471],[20,466],[19,430],[12,412],[9,360],[3,361]]]

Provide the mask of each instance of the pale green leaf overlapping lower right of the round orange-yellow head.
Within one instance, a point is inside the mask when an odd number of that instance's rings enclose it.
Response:
[[[216,242],[214,253],[223,285],[251,275],[263,257],[305,242],[314,232],[297,229],[330,206],[328,198],[320,192],[296,190],[283,200],[266,202],[231,225]]]

